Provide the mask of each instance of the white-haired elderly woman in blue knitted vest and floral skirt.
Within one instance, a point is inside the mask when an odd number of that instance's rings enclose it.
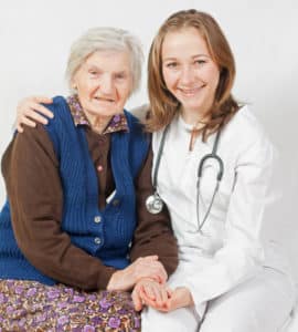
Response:
[[[150,139],[124,111],[141,59],[128,32],[87,31],[68,59],[74,94],[54,97],[49,125],[14,135],[6,151],[4,331],[138,331],[126,291],[141,278],[163,283],[174,271],[169,214],[145,208],[153,191]]]

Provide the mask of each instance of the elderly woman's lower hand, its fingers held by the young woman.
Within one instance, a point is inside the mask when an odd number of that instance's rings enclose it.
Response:
[[[153,308],[166,308],[168,299],[171,297],[171,290],[163,283],[159,283],[150,278],[140,279],[131,293],[136,311],[140,311],[142,305]]]

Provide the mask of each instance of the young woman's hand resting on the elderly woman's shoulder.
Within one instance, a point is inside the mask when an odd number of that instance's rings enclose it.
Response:
[[[23,132],[22,125],[35,127],[36,123],[47,124],[47,120],[42,116],[53,117],[53,113],[44,107],[43,104],[51,104],[52,98],[45,96],[30,96],[19,102],[17,107],[15,126],[19,133]]]

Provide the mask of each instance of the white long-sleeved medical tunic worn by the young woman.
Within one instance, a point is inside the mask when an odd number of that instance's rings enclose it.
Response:
[[[276,273],[279,279],[283,277],[279,281],[285,283],[284,291],[289,292],[287,308],[290,308],[294,288],[289,264],[276,242],[263,239],[264,214],[276,198],[270,189],[277,157],[274,146],[248,107],[240,110],[221,133],[217,155],[224,163],[224,175],[200,234],[196,231],[195,204],[198,166],[201,158],[212,152],[215,134],[206,143],[198,137],[193,151],[189,152],[190,132],[191,126],[177,116],[170,125],[158,172],[158,193],[169,208],[179,245],[180,263],[169,283],[191,290],[199,314],[195,318],[194,313],[194,321],[198,322],[209,301],[251,282],[264,269],[269,269],[266,278],[272,274],[275,278]],[[162,131],[153,134],[153,166],[161,136]],[[203,166],[200,221],[210,205],[217,169],[214,160],[207,160]],[[147,314],[143,314],[145,325]],[[185,331],[192,329],[188,326]]]

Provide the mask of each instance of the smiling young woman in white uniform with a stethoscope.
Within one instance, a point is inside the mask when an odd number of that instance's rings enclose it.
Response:
[[[142,331],[279,332],[294,307],[288,264],[263,239],[276,152],[232,96],[234,77],[211,15],[180,11],[161,25],[148,63],[156,187],[148,208],[168,206],[180,263],[167,287],[136,286]],[[36,118],[32,103],[19,107],[23,123]]]

